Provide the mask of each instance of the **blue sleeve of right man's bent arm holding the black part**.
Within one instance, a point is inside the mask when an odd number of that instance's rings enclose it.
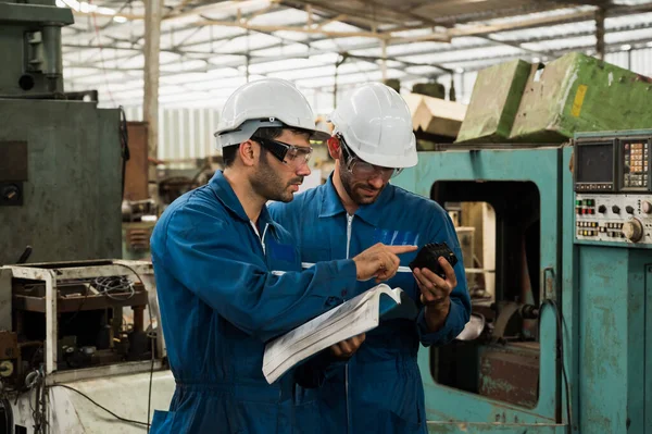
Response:
[[[471,317],[471,297],[468,296],[468,287],[466,284],[466,272],[464,271],[464,260],[462,258],[462,249],[457,240],[457,234],[455,227],[448,213],[443,212],[444,222],[441,224],[439,231],[428,240],[428,243],[441,243],[446,244],[453,250],[459,261],[453,268],[455,276],[457,277],[457,286],[452,290],[451,308],[449,314],[437,332],[430,332],[426,324],[425,308],[422,307],[418,318],[416,320],[416,326],[418,331],[419,340],[424,346],[430,345],[444,345],[453,340],[468,322]]]

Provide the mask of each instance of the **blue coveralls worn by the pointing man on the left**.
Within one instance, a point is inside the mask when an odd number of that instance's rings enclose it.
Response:
[[[222,172],[165,210],[151,251],[176,389],[150,433],[313,433],[299,369],[272,385],[263,376],[265,343],[339,305],[355,289],[354,262],[301,271],[289,233],[266,208],[256,227]]]

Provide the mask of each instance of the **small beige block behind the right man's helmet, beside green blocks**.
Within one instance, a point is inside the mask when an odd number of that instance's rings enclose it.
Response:
[[[412,128],[415,132],[421,129],[436,136],[457,137],[466,115],[466,106],[418,94],[406,95],[405,101],[412,113]]]

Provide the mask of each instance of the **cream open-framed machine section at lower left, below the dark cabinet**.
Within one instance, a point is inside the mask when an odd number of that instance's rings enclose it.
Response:
[[[2,406],[0,425],[11,420],[16,433],[102,433],[115,422],[98,418],[99,407],[86,397],[141,425],[152,402],[167,406],[174,381],[159,372],[165,347],[155,333],[151,262],[2,266],[0,307],[0,396],[11,402]],[[148,381],[149,388],[121,398],[129,384]]]

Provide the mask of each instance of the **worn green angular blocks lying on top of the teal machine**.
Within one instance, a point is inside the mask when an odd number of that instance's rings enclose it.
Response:
[[[651,100],[651,78],[581,53],[548,65],[513,61],[478,73],[457,142],[562,142],[575,132],[644,128]]]

